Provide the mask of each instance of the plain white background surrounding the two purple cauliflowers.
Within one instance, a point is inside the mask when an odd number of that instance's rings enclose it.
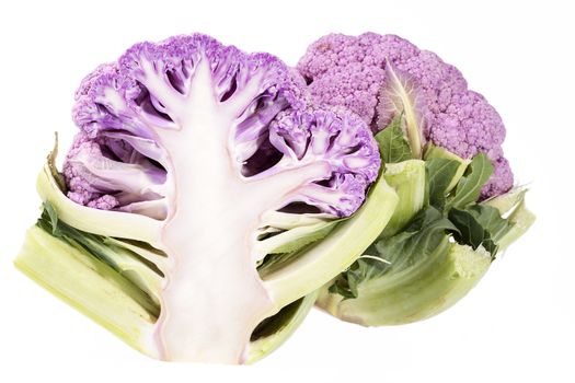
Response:
[[[122,4],[119,4],[122,3]],[[573,381],[574,43],[568,1],[4,1],[0,5],[0,381]],[[312,312],[253,367],[162,363],[19,274],[34,182],[67,148],[80,80],[133,43],[204,32],[295,65],[329,32],[395,33],[457,65],[496,105],[537,224],[462,302],[423,323],[361,328]]]

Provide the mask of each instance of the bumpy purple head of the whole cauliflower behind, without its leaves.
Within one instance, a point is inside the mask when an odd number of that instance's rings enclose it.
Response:
[[[505,127],[499,115],[482,95],[468,90],[457,68],[434,53],[394,35],[331,34],[310,45],[297,68],[315,102],[349,108],[373,131],[401,112],[393,100],[399,79],[417,113],[413,124],[422,137],[414,142],[428,140],[462,158],[486,153],[495,172],[482,198],[513,186],[501,148]]]

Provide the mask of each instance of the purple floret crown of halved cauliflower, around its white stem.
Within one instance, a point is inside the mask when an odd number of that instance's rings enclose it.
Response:
[[[207,92],[193,86],[200,70],[210,77]],[[214,97],[207,102],[216,118],[229,118],[222,143],[241,177],[272,174],[278,161],[289,170],[327,162],[331,171],[302,185],[297,201],[343,217],[360,206],[378,175],[377,144],[360,117],[312,108],[303,77],[278,58],[195,34],[136,44],[82,81],[73,107],[81,134],[65,163],[69,198],[161,218],[168,209],[158,201],[168,199],[163,183],[171,169],[162,147],[171,141],[162,137],[189,128],[186,106],[193,111],[198,94]]]

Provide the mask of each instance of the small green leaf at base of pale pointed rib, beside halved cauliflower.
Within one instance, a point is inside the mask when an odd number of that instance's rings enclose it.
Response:
[[[383,130],[376,135],[381,160],[384,163],[396,163],[413,158],[410,144],[403,137],[402,118],[403,114],[399,114]]]

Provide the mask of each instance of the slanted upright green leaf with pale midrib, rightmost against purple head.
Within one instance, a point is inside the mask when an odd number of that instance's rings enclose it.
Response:
[[[448,200],[447,210],[450,208],[464,208],[478,200],[481,188],[493,174],[493,165],[484,153],[473,158],[465,175],[457,184],[455,196]]]

